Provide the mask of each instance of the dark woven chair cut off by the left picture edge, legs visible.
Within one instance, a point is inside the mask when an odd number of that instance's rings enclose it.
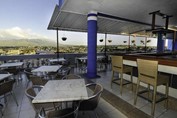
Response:
[[[14,84],[15,80],[8,80],[8,81],[5,81],[5,82],[2,82],[0,83],[0,96],[4,96],[4,102],[6,103],[7,102],[7,98],[6,96],[7,95],[12,95],[13,96],[13,99],[15,100],[17,106],[18,106],[18,102],[17,102],[17,99],[15,97],[15,93],[13,92],[13,84]]]

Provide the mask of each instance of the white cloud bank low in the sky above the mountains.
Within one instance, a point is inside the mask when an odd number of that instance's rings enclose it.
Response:
[[[48,37],[34,33],[31,29],[13,27],[0,29],[0,39],[48,39]]]

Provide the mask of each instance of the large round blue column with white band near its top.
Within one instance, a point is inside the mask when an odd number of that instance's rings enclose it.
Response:
[[[87,16],[87,77],[97,77],[97,12],[90,12]]]

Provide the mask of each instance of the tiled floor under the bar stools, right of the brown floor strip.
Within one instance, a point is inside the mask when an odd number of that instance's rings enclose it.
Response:
[[[99,73],[99,75],[101,75],[101,78],[97,79],[96,82],[102,84],[106,90],[108,90],[111,93],[114,93],[119,98],[123,99],[124,101],[134,106],[133,105],[134,92],[130,90],[130,87],[124,86],[123,94],[121,96],[119,85],[113,84],[113,87],[112,88],[110,87],[111,71]],[[163,105],[164,105],[163,102],[156,104],[156,112],[155,112],[154,117],[156,118],[177,118],[177,111],[174,111],[171,109],[166,110]],[[147,102],[146,100],[142,98],[138,97],[137,105],[135,107],[145,112],[148,115],[151,114],[151,103]]]

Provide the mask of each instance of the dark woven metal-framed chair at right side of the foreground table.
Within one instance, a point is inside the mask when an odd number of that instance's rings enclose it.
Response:
[[[103,92],[103,87],[102,87],[102,85],[95,84],[95,83],[88,84],[86,86],[87,87],[94,86],[93,95],[91,97],[89,97],[88,100],[83,100],[80,103],[79,110],[81,110],[81,111],[95,110],[96,107],[98,106],[101,94]]]

